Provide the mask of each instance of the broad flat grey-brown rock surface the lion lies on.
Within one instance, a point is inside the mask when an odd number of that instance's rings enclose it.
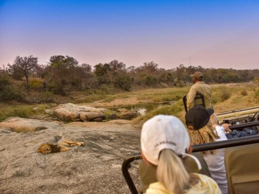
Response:
[[[85,146],[36,153],[41,143],[64,139]],[[70,123],[28,133],[0,129],[0,194],[129,194],[121,164],[139,151],[140,129],[129,121]],[[137,165],[131,171],[136,179]]]

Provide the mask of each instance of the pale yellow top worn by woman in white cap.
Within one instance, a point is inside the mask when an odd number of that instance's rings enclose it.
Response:
[[[199,182],[192,186],[185,194],[221,194],[221,191],[217,183],[206,175],[192,173],[192,175],[198,178]],[[173,194],[166,190],[166,188],[160,182],[151,183],[146,190],[146,194]]]

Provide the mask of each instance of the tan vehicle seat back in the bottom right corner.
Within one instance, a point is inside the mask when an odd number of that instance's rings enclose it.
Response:
[[[229,194],[259,193],[259,144],[225,149]]]

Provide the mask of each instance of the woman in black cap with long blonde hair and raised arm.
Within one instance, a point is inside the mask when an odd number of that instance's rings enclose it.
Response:
[[[229,124],[222,126],[211,122],[213,109],[194,106],[185,115],[185,122],[194,145],[227,140],[225,131],[231,131]],[[210,169],[211,177],[218,183],[223,194],[228,193],[226,169],[224,164],[225,149],[202,152]]]

